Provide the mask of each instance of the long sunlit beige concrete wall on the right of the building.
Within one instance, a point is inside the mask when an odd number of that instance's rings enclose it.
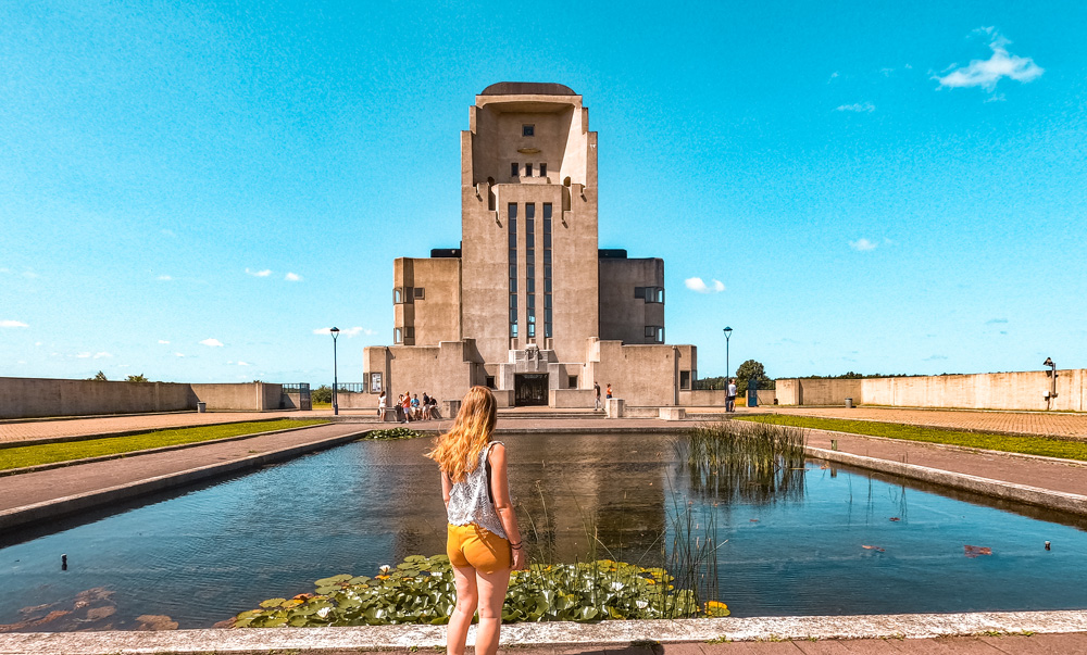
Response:
[[[777,380],[783,405],[857,404],[970,410],[1087,411],[1087,369],[1057,371],[1057,398],[1046,402],[1051,379],[1044,370],[861,380]]]

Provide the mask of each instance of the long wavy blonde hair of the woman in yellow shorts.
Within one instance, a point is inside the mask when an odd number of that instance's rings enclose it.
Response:
[[[460,482],[479,465],[479,451],[490,443],[497,420],[498,403],[490,389],[468,389],[452,429],[435,439],[434,450],[426,456],[437,462],[450,480]]]

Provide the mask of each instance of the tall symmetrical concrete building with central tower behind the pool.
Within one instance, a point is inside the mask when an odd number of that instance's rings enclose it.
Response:
[[[694,345],[664,343],[664,262],[597,243],[597,133],[559,84],[500,83],[461,133],[461,248],[393,264],[393,344],[365,349],[371,393],[591,407],[676,405]]]

